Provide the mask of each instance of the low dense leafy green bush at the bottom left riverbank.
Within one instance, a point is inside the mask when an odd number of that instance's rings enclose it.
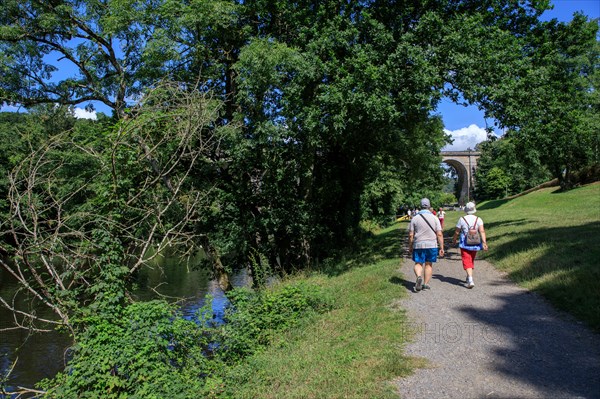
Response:
[[[207,337],[162,301],[90,315],[63,373],[41,386],[49,398],[194,398],[209,371]]]

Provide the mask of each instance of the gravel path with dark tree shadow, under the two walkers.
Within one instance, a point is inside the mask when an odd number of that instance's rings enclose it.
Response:
[[[476,260],[464,287],[460,253],[434,265],[431,290],[402,301],[418,332],[405,352],[429,368],[396,381],[402,398],[600,398],[600,336]],[[590,282],[594,283],[594,282]]]

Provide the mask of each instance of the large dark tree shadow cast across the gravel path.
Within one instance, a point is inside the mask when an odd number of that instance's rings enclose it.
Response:
[[[495,297],[500,306],[458,310],[481,334],[471,345],[490,344],[491,369],[534,386],[546,397],[600,398],[600,336],[560,315],[528,292]]]

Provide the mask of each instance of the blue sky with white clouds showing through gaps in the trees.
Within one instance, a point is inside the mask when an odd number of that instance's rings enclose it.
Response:
[[[600,0],[552,0],[553,10],[548,10],[542,15],[542,20],[553,18],[562,22],[568,22],[577,11],[583,12],[591,18],[600,18]],[[60,75],[67,71],[58,71]],[[103,109],[100,104],[98,110],[110,114],[110,110]],[[14,107],[4,106],[1,111],[16,111]],[[454,142],[443,148],[445,151],[463,151],[467,148],[475,148],[475,145],[484,141],[487,137],[486,127],[494,128],[497,135],[501,135],[494,125],[494,120],[486,120],[483,111],[476,106],[464,107],[454,104],[448,99],[443,99],[437,113],[442,116],[445,132],[450,134]],[[75,108],[75,116],[78,118],[96,119],[95,112],[88,112],[83,108]]]

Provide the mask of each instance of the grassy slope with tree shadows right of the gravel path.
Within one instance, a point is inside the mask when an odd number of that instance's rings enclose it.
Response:
[[[463,213],[449,212],[446,234]],[[600,183],[479,204],[490,250],[519,285],[600,331]]]

